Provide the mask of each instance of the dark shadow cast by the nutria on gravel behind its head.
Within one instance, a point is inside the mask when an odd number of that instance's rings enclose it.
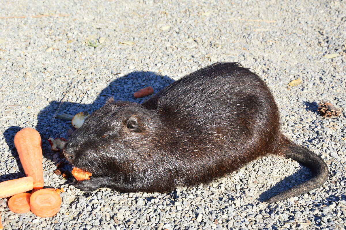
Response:
[[[114,100],[128,100],[137,103],[143,103],[145,100],[150,98],[146,96],[144,98],[136,99],[133,93],[137,90],[145,88],[146,86],[153,86],[154,92],[160,91],[164,86],[169,85],[174,80],[168,76],[158,75],[154,72],[135,71],[125,76],[119,77],[113,80],[106,88],[104,88],[98,95],[95,95],[95,100],[91,104],[83,104],[76,102],[66,101],[52,101],[50,104],[40,111],[38,114],[38,124],[36,126],[37,131],[40,132],[42,138],[47,140],[49,137],[67,137],[67,130],[72,128],[71,121],[62,120],[55,118],[53,121],[54,114],[56,113],[60,103],[60,109],[57,112],[59,114],[71,114],[74,115],[78,112],[93,111],[102,107],[106,100],[113,97]],[[76,87],[73,86],[72,87]],[[133,90],[130,90],[133,89]],[[80,92],[84,93],[83,89]],[[77,93],[76,93],[77,94]],[[46,142],[48,144],[48,142]],[[48,146],[48,145],[47,145]],[[50,146],[48,146],[50,149]],[[45,151],[49,153],[49,150]]]

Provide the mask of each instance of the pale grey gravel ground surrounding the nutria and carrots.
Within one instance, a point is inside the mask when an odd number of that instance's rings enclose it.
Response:
[[[345,1],[19,2],[0,7],[0,16],[27,16],[0,19],[0,181],[24,175],[13,136],[35,127],[44,140],[46,186],[65,193],[51,218],[12,213],[1,199],[4,229],[345,229],[346,119],[317,113],[321,100],[346,109]],[[60,16],[31,17],[47,14]],[[240,62],[264,79],[284,133],[326,160],[331,175],[324,186],[263,203],[311,176],[276,156],[169,194],[84,194],[53,174],[62,159],[47,139],[66,137],[71,128],[51,121],[62,99],[58,114],[92,112],[111,95],[143,102],[133,97],[138,89],[157,92],[214,62]],[[301,84],[288,86],[298,78]]]

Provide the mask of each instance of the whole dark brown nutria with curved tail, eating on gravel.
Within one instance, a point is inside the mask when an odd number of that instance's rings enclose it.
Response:
[[[267,85],[239,63],[216,63],[172,83],[143,104],[108,100],[64,147],[93,174],[76,186],[120,192],[169,192],[208,183],[267,154],[291,157],[315,176],[268,202],[325,183],[326,163],[282,135]]]

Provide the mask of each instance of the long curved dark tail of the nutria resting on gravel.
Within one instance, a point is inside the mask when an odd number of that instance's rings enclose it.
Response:
[[[291,145],[286,148],[284,154],[287,158],[292,158],[298,161],[302,165],[307,166],[312,170],[312,177],[310,180],[305,181],[297,186],[290,188],[289,190],[283,191],[275,196],[270,197],[265,202],[272,203],[277,201],[286,200],[292,196],[298,196],[303,193],[307,193],[315,188],[322,186],[328,179],[329,171],[327,164],[322,158],[312,151],[298,146],[291,142]]]

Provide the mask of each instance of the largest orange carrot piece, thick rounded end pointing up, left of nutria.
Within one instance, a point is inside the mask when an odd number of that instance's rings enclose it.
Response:
[[[15,146],[27,176],[34,178],[34,188],[43,188],[42,141],[32,128],[21,129],[15,135]]]

